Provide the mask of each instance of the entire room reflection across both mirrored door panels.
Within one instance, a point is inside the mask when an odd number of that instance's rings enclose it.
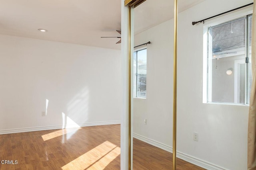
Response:
[[[247,153],[246,106],[253,77],[253,6],[192,25],[252,2],[246,1],[178,1],[176,165],[180,169],[242,170],[247,169],[247,157],[253,157]],[[134,49],[147,51],[146,95],[132,99],[134,169],[172,169],[172,9],[169,0],[147,0],[134,9],[134,46],[151,42]]]

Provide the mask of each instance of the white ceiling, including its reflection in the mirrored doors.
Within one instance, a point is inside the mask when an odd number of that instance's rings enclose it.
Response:
[[[179,12],[203,0],[179,0]],[[121,0],[0,0],[0,34],[120,49]],[[171,0],[135,8],[135,32],[173,18]],[[161,11],[161,12],[159,12]],[[48,31],[42,33],[38,29]]]

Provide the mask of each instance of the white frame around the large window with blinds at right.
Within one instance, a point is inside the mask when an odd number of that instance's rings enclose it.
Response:
[[[240,105],[240,106],[249,106],[249,102],[250,102],[250,98],[249,98],[249,94],[248,92],[249,90],[249,71],[250,71],[250,66],[249,64],[251,63],[251,59],[250,59],[250,55],[249,55],[249,17],[252,15],[252,7],[248,8],[246,10],[241,11],[236,11],[236,12],[232,12],[231,14],[228,14],[227,16],[220,16],[218,18],[212,19],[211,22],[209,22],[208,24],[205,24],[203,26],[203,30],[204,30],[204,34],[203,34],[203,90],[202,90],[202,102],[206,103],[206,104],[225,104],[225,105]],[[208,90],[210,88],[209,86],[209,49],[208,49],[208,44],[209,44],[209,39],[208,39],[208,33],[209,33],[209,28],[210,27],[214,27],[216,25],[220,25],[222,23],[226,23],[232,20],[237,20],[239,18],[243,18],[246,17],[246,47],[245,47],[245,57],[249,58],[249,62],[246,63],[246,68],[245,68],[245,72],[246,72],[246,81],[245,81],[245,104],[240,104],[240,103],[228,103],[228,102],[209,102],[209,93]],[[246,59],[246,58],[245,58]]]

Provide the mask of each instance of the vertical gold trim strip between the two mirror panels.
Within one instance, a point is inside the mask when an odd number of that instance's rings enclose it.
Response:
[[[178,20],[178,0],[174,0],[174,53],[173,53],[173,132],[172,132],[172,162],[173,170],[176,170],[176,123],[177,123],[177,20]]]

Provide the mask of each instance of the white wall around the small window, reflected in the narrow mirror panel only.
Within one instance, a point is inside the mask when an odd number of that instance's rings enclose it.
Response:
[[[134,98],[134,133],[168,144],[171,134],[162,132],[172,131],[172,30],[165,22],[134,37],[135,46],[152,42],[147,45],[147,98]]]

